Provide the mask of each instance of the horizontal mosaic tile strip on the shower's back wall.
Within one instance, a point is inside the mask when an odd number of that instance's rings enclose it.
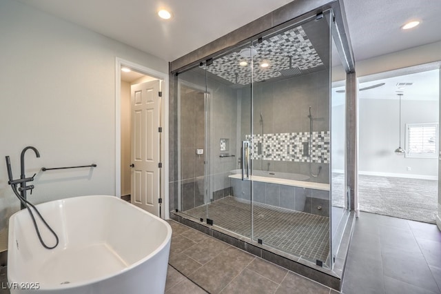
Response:
[[[252,159],[309,162],[311,153],[312,162],[329,164],[329,131],[312,132],[311,146],[310,136],[309,132],[300,132],[246,135],[245,138],[252,141]]]

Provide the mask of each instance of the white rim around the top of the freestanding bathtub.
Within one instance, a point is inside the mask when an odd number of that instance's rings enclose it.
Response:
[[[88,286],[88,285],[92,285],[92,284],[96,284],[99,282],[103,282],[106,280],[110,280],[112,279],[112,277],[116,277],[118,275],[122,275],[123,273],[126,273],[130,270],[132,270],[133,268],[136,268],[137,266],[140,266],[141,264],[144,264],[145,262],[147,262],[147,260],[153,258],[154,256],[158,255],[159,253],[161,253],[161,251],[163,251],[163,249],[165,247],[168,246],[169,243],[171,243],[171,239],[172,239],[172,227],[170,226],[170,224],[168,224],[167,222],[165,222],[164,219],[161,219],[161,217],[157,217],[156,215],[153,215],[152,213],[149,213],[141,208],[139,208],[138,206],[135,206],[133,204],[130,204],[129,202],[126,202],[125,200],[116,197],[114,195],[84,195],[84,196],[75,196],[75,197],[68,197],[68,198],[63,198],[63,199],[57,199],[57,200],[52,200],[50,202],[44,202],[41,204],[36,204],[35,206],[37,208],[41,208],[44,206],[50,206],[52,204],[55,204],[57,202],[61,203],[61,202],[70,202],[70,201],[74,201],[76,199],[85,199],[88,197],[94,197],[94,198],[98,198],[98,199],[110,199],[112,198],[112,200],[110,201],[116,201],[116,202],[124,202],[121,205],[128,205],[128,206],[132,206],[132,208],[136,208],[137,210],[141,211],[142,213],[145,213],[146,215],[149,215],[150,217],[153,217],[154,219],[157,219],[159,222],[165,224],[165,227],[167,228],[167,235],[164,239],[164,241],[161,243],[161,245],[159,245],[154,251],[152,251],[150,254],[146,255],[145,257],[143,257],[142,259],[139,259],[137,262],[134,262],[132,264],[130,264],[130,266],[127,266],[125,268],[123,268],[121,271],[116,271],[116,273],[110,274],[110,275],[103,275],[99,278],[93,278],[93,279],[89,279],[89,280],[85,280],[82,282],[72,282],[69,284],[57,284],[57,285],[50,285],[50,286],[46,286],[40,285],[39,291],[54,291],[54,290],[63,290],[63,289],[68,289],[68,288],[79,288],[82,286]],[[27,210],[19,210],[17,211],[17,213],[14,213],[13,215],[10,216],[9,218],[9,226],[8,228],[10,229],[11,227],[14,227],[14,223],[15,223],[15,218],[17,217],[17,215],[19,215],[19,213],[28,213]],[[43,215],[44,217],[44,215]],[[31,224],[32,226],[32,224]],[[12,264],[10,262],[10,249],[9,248],[14,248],[13,244],[12,244],[12,240],[15,239],[15,235],[13,230],[9,230],[8,231],[8,268],[10,268],[10,265]],[[17,252],[17,251],[14,251]],[[168,263],[168,260],[167,260]],[[10,271],[8,271],[8,282],[28,282],[28,281],[10,281]]]

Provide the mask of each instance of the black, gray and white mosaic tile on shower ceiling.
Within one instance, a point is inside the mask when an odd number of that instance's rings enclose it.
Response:
[[[279,77],[280,70],[289,69],[289,57],[292,61],[291,68],[296,71],[323,64],[302,26],[265,39],[262,43],[256,43],[254,48],[257,50],[253,58],[255,82]],[[240,66],[240,61],[247,61],[247,66]],[[268,61],[267,68],[260,67],[263,61]],[[249,58],[242,57],[238,50],[214,60],[212,65],[207,66],[207,70],[233,84],[246,85],[251,83],[250,63]]]

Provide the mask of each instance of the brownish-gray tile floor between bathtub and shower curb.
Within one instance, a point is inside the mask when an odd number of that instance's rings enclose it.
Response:
[[[168,222],[173,235],[165,293],[338,293],[183,224]]]

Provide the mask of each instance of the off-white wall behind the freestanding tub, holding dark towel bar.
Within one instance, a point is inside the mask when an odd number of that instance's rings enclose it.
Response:
[[[165,73],[167,62],[11,0],[0,1],[0,43],[0,160],[10,155],[17,178],[21,150],[39,149],[26,155],[26,175],[37,173],[30,201],[115,195],[115,58]],[[19,210],[7,177],[0,164],[0,251]]]

